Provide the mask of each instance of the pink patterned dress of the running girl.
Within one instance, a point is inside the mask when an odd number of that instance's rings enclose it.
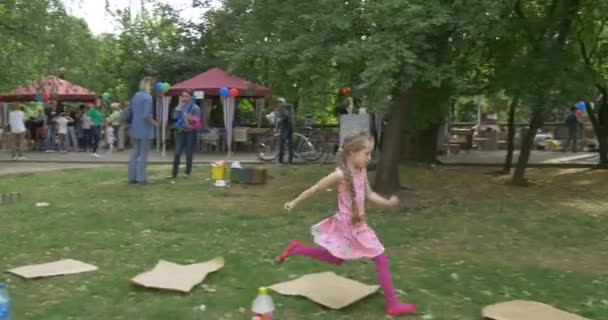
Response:
[[[367,171],[353,174],[355,199],[359,214],[365,215]],[[315,243],[343,260],[374,258],[384,253],[384,246],[367,223],[351,224],[351,200],[344,182],[338,187],[338,212],[312,226]]]

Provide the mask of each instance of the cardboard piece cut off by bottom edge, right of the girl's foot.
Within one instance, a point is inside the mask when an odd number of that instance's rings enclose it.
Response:
[[[514,300],[487,306],[482,316],[492,320],[591,320],[535,301]]]

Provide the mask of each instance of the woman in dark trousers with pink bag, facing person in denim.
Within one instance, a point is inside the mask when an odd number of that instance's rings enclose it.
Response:
[[[192,172],[192,160],[198,131],[202,127],[201,109],[196,105],[192,90],[185,90],[180,95],[180,103],[173,111],[175,124],[175,157],[173,158],[173,172],[171,178],[177,177],[182,152],[186,152],[186,175],[190,177]]]

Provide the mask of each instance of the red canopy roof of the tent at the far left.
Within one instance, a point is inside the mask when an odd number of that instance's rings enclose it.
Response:
[[[44,92],[50,93],[51,99],[58,102],[95,102],[97,99],[97,94],[87,88],[55,76],[48,76],[32,81],[28,85],[17,87],[11,92],[0,94],[0,101],[34,101],[37,95],[42,95]]]

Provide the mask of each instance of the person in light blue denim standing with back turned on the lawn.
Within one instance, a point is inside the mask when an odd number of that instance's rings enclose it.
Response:
[[[130,136],[133,148],[129,158],[129,183],[146,184],[148,176],[148,151],[150,142],[154,139],[154,127],[157,125],[152,116],[152,87],[154,79],[145,77],[139,84],[139,91],[131,99],[130,115],[126,122],[130,123]]]

